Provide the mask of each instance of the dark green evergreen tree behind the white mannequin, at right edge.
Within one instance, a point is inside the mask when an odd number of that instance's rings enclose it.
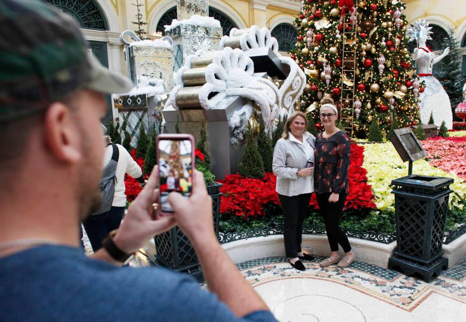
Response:
[[[450,47],[450,53],[438,63],[440,68],[434,76],[442,83],[443,88],[450,97],[453,115],[455,115],[456,106],[463,101],[461,75],[463,56],[460,51],[460,42],[456,39],[456,30],[451,26],[448,29],[448,37],[443,39],[440,46],[442,49],[446,47]]]

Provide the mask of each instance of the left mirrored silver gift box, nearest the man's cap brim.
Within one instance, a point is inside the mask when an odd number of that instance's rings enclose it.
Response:
[[[168,93],[173,88],[173,48],[133,45],[128,50],[128,68],[133,83],[141,76],[163,80]]]

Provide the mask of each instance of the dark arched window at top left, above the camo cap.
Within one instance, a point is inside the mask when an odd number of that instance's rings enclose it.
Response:
[[[79,26],[86,29],[108,30],[105,15],[95,0],[42,0],[71,14]]]

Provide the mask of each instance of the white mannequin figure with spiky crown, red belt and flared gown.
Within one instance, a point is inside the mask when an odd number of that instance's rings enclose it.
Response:
[[[438,57],[430,48],[427,47],[426,41],[431,40],[429,27],[426,20],[418,20],[409,30],[411,36],[409,41],[416,40],[418,48],[414,49],[414,57],[419,67],[419,80],[424,81],[425,90],[419,95],[419,111],[423,124],[427,124],[430,118],[430,113],[433,115],[435,125],[440,126],[442,121],[448,129],[453,127],[453,115],[451,111],[450,98],[448,97],[442,84],[432,76],[432,67],[434,64],[442,60],[450,53],[450,48],[447,47]]]

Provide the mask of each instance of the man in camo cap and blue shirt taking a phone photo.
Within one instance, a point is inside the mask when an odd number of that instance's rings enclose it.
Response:
[[[132,84],[87,52],[78,24],[36,0],[0,0],[0,321],[275,321],[213,231],[202,174],[156,218],[156,167],[93,257],[79,222],[100,202],[104,93]],[[178,224],[210,292],[164,269],[119,267]]]

